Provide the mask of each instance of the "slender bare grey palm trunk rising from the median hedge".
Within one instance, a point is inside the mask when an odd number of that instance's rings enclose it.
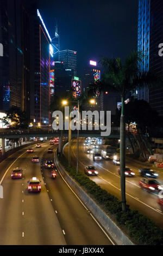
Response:
[[[122,199],[122,211],[126,211],[126,127],[124,118],[124,96],[122,99],[121,109],[121,121],[120,121],[120,167],[121,167],[121,199]]]

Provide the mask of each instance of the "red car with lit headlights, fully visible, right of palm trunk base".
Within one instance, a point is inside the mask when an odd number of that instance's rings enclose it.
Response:
[[[151,192],[161,191],[160,182],[158,182],[154,178],[142,178],[139,181],[139,186]]]

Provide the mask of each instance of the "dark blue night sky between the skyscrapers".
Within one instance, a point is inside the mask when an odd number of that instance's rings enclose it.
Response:
[[[60,50],[78,52],[79,73],[89,59],[137,49],[137,0],[39,0],[39,9],[52,38],[58,20]]]

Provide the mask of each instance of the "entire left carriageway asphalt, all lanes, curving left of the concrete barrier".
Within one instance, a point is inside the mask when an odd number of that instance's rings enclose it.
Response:
[[[52,180],[51,171],[44,168],[49,142],[27,153],[19,150],[0,163],[0,184],[4,195],[0,199],[1,245],[113,245],[105,233],[78,200],[57,171]],[[57,146],[53,146],[54,151]],[[41,163],[32,163],[39,156]],[[41,162],[41,161],[40,161]],[[20,180],[11,179],[11,171],[23,169]],[[41,193],[28,193],[28,180],[41,181]]]

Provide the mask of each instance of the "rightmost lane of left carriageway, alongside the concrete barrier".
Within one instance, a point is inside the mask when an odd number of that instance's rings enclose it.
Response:
[[[59,172],[55,180],[51,178],[51,170],[44,167],[47,159],[53,160],[53,154],[43,154],[42,177],[61,229],[64,230],[67,245],[111,245],[111,241]]]

